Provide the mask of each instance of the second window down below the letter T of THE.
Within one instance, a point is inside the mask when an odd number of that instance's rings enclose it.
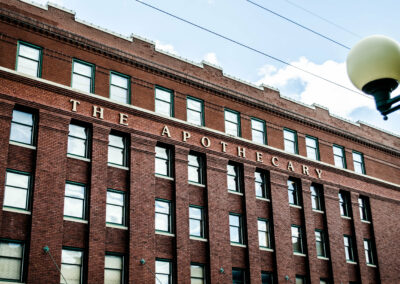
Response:
[[[86,218],[86,187],[83,184],[65,184],[64,216],[78,219]]]

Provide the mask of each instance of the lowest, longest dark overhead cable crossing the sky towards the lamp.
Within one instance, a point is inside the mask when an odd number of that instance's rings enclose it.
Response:
[[[230,41],[230,42],[232,42],[232,43],[234,43],[234,44],[236,44],[236,45],[239,45],[239,46],[241,46],[241,47],[244,47],[244,48],[246,48],[246,49],[249,49],[249,50],[251,50],[251,51],[253,51],[253,52],[255,52],[255,53],[261,54],[261,55],[263,55],[263,56],[265,56],[265,57],[268,57],[268,58],[270,58],[270,59],[273,59],[273,60],[275,60],[275,61],[277,61],[277,62],[280,62],[280,63],[285,64],[285,65],[287,65],[287,66],[290,66],[290,67],[292,67],[292,68],[294,68],[294,69],[297,69],[297,70],[299,70],[299,71],[302,71],[302,72],[304,72],[304,73],[306,73],[306,74],[309,74],[309,75],[311,75],[311,76],[313,76],[313,77],[315,77],[315,78],[318,78],[318,79],[320,79],[320,80],[323,80],[323,81],[325,81],[325,82],[328,82],[328,83],[330,83],[330,84],[333,84],[333,85],[335,85],[335,86],[337,86],[337,87],[340,87],[340,88],[342,88],[342,89],[345,89],[345,90],[347,90],[347,91],[350,91],[350,92],[356,93],[356,94],[358,94],[358,95],[364,96],[364,97],[366,97],[366,98],[372,99],[371,97],[369,97],[369,96],[367,96],[367,95],[365,95],[365,94],[363,94],[363,93],[357,92],[357,91],[355,91],[355,90],[353,90],[353,89],[350,89],[350,88],[348,88],[348,87],[346,87],[346,86],[343,86],[343,85],[341,85],[341,84],[339,84],[339,83],[337,83],[337,82],[335,82],[335,81],[332,81],[332,80],[330,80],[330,79],[324,78],[324,77],[322,77],[322,76],[320,76],[320,75],[317,75],[317,74],[315,74],[315,73],[313,73],[313,72],[311,72],[311,71],[308,71],[308,70],[306,70],[306,69],[303,69],[303,68],[301,68],[301,67],[297,67],[296,65],[293,65],[293,64],[291,64],[291,63],[289,63],[289,62],[286,62],[286,61],[284,61],[284,60],[282,60],[282,59],[279,59],[279,58],[277,58],[277,57],[275,57],[275,56],[272,56],[272,55],[267,54],[267,53],[265,53],[265,52],[263,52],[263,51],[260,51],[260,50],[254,48],[254,47],[251,47],[251,46],[249,46],[249,45],[246,45],[246,44],[244,44],[244,43],[241,43],[241,42],[239,42],[239,41],[237,41],[237,40],[231,39],[231,38],[229,38],[229,37],[227,37],[227,36],[224,36],[224,35],[222,35],[222,34],[220,34],[220,33],[214,32],[214,31],[212,31],[212,30],[210,30],[210,29],[208,29],[208,28],[205,28],[205,27],[202,27],[202,26],[200,26],[200,25],[198,25],[198,24],[195,24],[195,23],[193,23],[193,22],[191,22],[191,21],[189,21],[189,20],[185,20],[185,19],[183,19],[183,18],[181,18],[181,17],[179,17],[179,16],[176,16],[176,15],[174,15],[174,14],[171,14],[171,13],[165,11],[165,10],[162,10],[162,9],[160,9],[160,8],[157,8],[157,7],[155,7],[155,6],[152,6],[152,5],[150,5],[150,4],[147,4],[147,3],[145,3],[145,2],[142,2],[141,0],[135,0],[135,1],[138,2],[138,3],[140,3],[140,4],[142,4],[142,5],[147,6],[147,7],[149,7],[149,8],[152,8],[152,9],[154,9],[154,10],[156,10],[156,11],[159,11],[159,12],[165,14],[165,15],[168,15],[168,16],[170,16],[170,17],[173,17],[173,18],[175,18],[175,19],[177,19],[177,20],[179,20],[179,21],[182,21],[182,22],[187,23],[187,24],[189,24],[189,25],[191,25],[191,26],[194,26],[194,27],[196,27],[196,28],[198,28],[198,29],[201,29],[201,30],[203,30],[203,31],[206,31],[206,32],[208,32],[208,33],[211,33],[211,34],[213,34],[213,35],[215,35],[215,36],[217,36],[217,37],[220,37],[220,38],[222,38],[222,39],[225,39],[225,40],[227,40],[227,41]]]

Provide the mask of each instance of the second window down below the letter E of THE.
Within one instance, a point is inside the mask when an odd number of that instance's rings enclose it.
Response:
[[[106,222],[125,225],[125,193],[107,190]]]

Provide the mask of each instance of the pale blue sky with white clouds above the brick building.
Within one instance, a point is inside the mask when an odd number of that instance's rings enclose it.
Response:
[[[34,2],[46,5],[47,1]],[[329,109],[353,122],[362,121],[400,135],[400,111],[387,121],[370,96],[347,77],[346,57],[362,38],[383,34],[400,41],[398,0],[53,0],[76,18],[153,41],[158,49],[200,63],[220,66],[225,74],[279,89],[281,96]],[[264,54],[322,76],[355,92],[296,70],[268,56],[217,37],[149,8],[156,6],[238,41]],[[338,43],[261,9],[261,5]],[[400,95],[400,87],[392,93]]]

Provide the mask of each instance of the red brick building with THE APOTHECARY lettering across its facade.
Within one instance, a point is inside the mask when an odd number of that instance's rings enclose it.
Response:
[[[399,136],[55,6],[0,26],[0,283],[400,283]]]

